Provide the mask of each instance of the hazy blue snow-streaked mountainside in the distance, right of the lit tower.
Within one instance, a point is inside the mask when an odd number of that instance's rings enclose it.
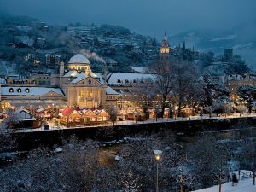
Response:
[[[233,48],[234,55],[241,58],[256,68],[256,22],[236,26],[230,30],[195,30],[181,32],[169,37],[172,46],[182,44],[185,41],[187,47],[207,52],[212,51],[215,55],[222,54],[225,48]]]

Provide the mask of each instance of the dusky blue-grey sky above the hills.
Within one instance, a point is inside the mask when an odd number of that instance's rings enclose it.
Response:
[[[162,38],[178,32],[227,30],[256,22],[255,0],[0,0],[0,12],[50,24],[113,24]]]

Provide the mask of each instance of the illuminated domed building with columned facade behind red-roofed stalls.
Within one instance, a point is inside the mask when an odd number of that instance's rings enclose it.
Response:
[[[81,54],[68,61],[68,72],[60,64],[60,73],[51,79],[51,85],[60,86],[65,93],[68,106],[78,108],[106,108],[116,105],[118,93],[108,87],[102,74],[93,73],[90,61]],[[109,99],[111,98],[111,99]]]

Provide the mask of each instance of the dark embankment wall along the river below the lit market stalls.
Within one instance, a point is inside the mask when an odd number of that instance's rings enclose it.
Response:
[[[225,119],[193,119],[170,122],[134,123],[132,125],[108,125],[55,129],[46,131],[14,132],[10,137],[16,139],[19,150],[28,150],[39,145],[61,144],[64,139],[75,135],[79,139],[102,142],[121,140],[137,135],[148,136],[153,133],[176,134],[192,137],[204,131],[227,131],[255,126],[255,117]]]

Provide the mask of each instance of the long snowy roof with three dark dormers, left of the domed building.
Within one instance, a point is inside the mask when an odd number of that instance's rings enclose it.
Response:
[[[60,88],[16,87],[16,86],[1,87],[1,95],[4,95],[4,96],[44,96],[49,92],[55,92],[56,94],[64,96]]]

